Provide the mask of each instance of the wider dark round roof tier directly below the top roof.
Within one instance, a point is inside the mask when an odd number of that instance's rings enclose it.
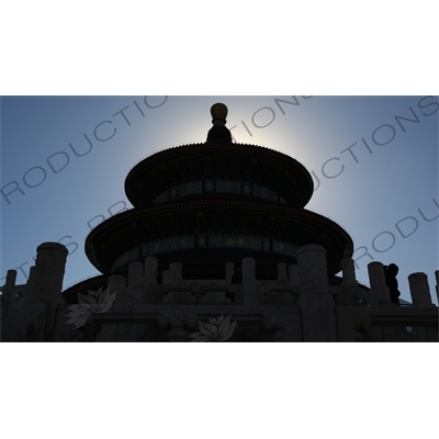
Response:
[[[264,264],[282,258],[292,263],[297,248],[308,244],[326,249],[329,274],[340,271],[341,260],[353,252],[350,236],[314,212],[279,203],[211,199],[155,204],[115,215],[89,234],[86,254],[99,271],[110,274],[147,256],[171,262],[191,260],[198,267],[204,260],[212,266],[203,251],[221,264],[230,251],[236,254],[230,261],[246,252],[262,258]]]

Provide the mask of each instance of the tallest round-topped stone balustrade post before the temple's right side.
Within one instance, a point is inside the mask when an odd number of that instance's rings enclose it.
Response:
[[[337,341],[325,248],[318,245],[301,247],[297,251],[297,271],[304,341]]]

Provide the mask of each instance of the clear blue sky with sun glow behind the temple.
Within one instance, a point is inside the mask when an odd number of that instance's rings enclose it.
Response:
[[[357,279],[372,260],[427,273],[438,263],[438,99],[409,97],[5,97],[1,100],[1,277],[25,283],[36,247],[69,249],[64,286],[97,274],[85,239],[131,209],[130,169],[154,151],[204,142],[224,102],[236,142],[285,153],[312,172],[306,209],[352,237]],[[3,280],[0,280],[3,282]]]

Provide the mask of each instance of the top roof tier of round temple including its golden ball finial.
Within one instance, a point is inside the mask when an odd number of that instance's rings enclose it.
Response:
[[[211,113],[213,127],[205,143],[156,153],[130,171],[125,192],[135,207],[171,200],[172,191],[180,192],[179,199],[217,194],[217,190],[206,189],[217,182],[234,185],[234,198],[258,196],[255,192],[262,188],[262,191],[274,193],[278,201],[295,207],[306,205],[313,195],[314,183],[302,164],[274,149],[234,144],[225,126],[227,108],[217,103]],[[187,184],[198,189],[188,190],[183,188]]]

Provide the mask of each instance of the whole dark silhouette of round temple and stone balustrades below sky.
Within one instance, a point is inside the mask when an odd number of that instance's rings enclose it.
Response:
[[[305,209],[309,172],[233,143],[227,111],[212,106],[205,143],[130,171],[134,209],[86,239],[101,275],[63,291],[68,251],[56,243],[37,248],[25,285],[8,271],[2,341],[438,341],[427,275],[408,277],[402,306],[381,262],[359,284],[348,233]]]

